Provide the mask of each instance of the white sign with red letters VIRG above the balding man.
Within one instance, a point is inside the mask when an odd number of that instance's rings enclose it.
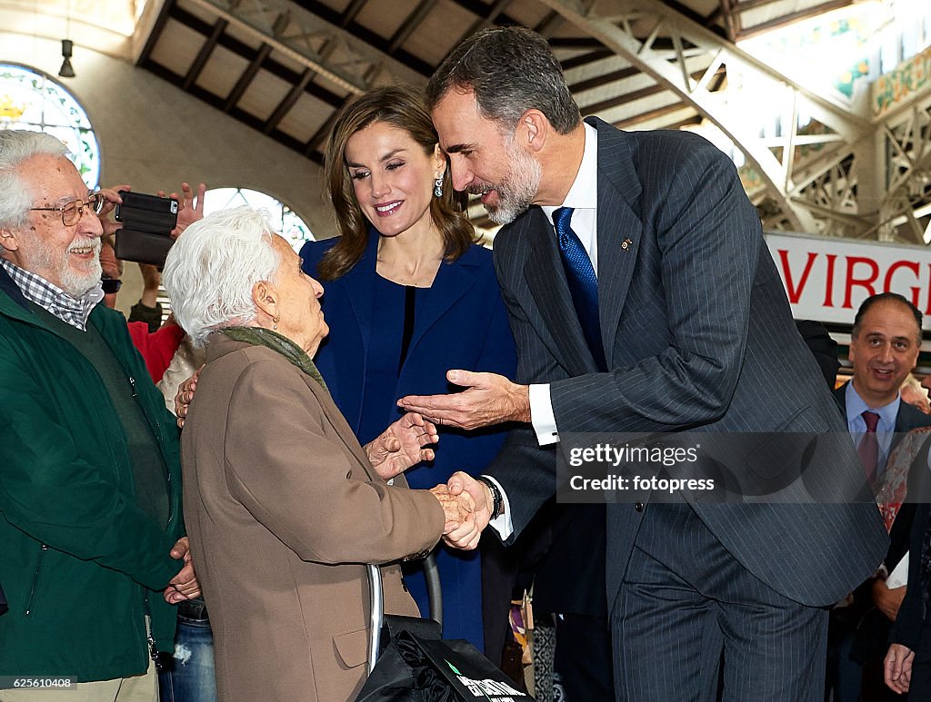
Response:
[[[851,324],[860,303],[893,292],[931,329],[931,249],[799,234],[765,234],[795,319]]]

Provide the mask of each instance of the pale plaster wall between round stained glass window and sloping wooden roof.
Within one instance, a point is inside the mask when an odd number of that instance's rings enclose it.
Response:
[[[74,46],[77,75],[59,78],[60,42],[6,32],[0,32],[0,61],[45,71],[72,92],[101,144],[101,185],[171,192],[187,180],[209,188],[251,188],[289,205],[317,239],[335,234],[319,166],[154,74]],[[142,279],[133,265],[124,279],[119,303],[128,311]]]

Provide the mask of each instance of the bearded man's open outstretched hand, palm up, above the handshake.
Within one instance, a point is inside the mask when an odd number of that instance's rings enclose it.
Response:
[[[416,412],[437,424],[479,429],[502,422],[530,421],[530,388],[496,373],[447,371],[446,378],[466,388],[449,395],[407,395],[398,407]]]

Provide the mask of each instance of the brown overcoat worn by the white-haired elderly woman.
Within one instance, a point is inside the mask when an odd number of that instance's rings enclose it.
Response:
[[[363,563],[430,549],[443,510],[371,468],[330,394],[276,351],[213,334],[182,432],[184,519],[213,629],[220,702],[355,697]],[[385,611],[417,615],[397,564]]]

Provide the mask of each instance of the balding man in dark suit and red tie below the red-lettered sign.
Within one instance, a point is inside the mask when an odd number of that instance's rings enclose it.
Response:
[[[865,299],[854,318],[850,342],[853,377],[834,391],[834,398],[855,439],[863,469],[878,494],[882,494],[884,483],[891,481],[902,483],[904,491],[909,467],[927,467],[926,445],[915,456],[899,457],[895,452],[905,434],[931,425],[931,417],[904,402],[899,394],[899,387],[918,361],[921,338],[921,311],[896,293]],[[913,444],[921,447],[923,442]],[[902,499],[896,502],[901,504]],[[884,571],[860,585],[847,606],[831,612],[828,678],[837,702],[857,702],[863,664],[884,656],[890,624],[896,620],[905,597],[905,586],[888,587],[884,575],[893,571],[909,550],[914,508],[909,499],[901,504],[897,515],[890,514],[887,520],[892,528]],[[884,689],[881,676],[874,672],[879,669],[867,669],[868,689],[874,691],[870,698],[883,695]]]

